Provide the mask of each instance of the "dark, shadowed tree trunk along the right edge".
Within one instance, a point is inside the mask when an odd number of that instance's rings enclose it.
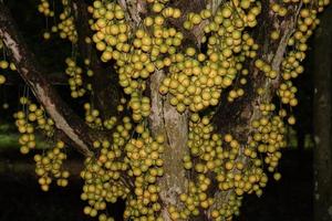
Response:
[[[332,8],[315,35],[314,67],[314,220],[332,220]]]

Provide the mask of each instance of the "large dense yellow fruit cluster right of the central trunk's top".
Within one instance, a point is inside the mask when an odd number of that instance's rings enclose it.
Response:
[[[246,14],[234,4],[226,3],[204,29],[206,35],[209,35],[203,39],[203,42],[207,42],[207,54],[187,48],[185,54],[170,55],[169,74],[159,91],[173,95],[170,103],[178,112],[184,112],[187,106],[191,112],[199,112],[219,103],[221,91],[232,85],[242,70],[245,57],[256,56],[258,45],[245,31],[246,27],[253,27],[255,23],[249,19],[245,22],[242,17],[255,19],[259,13],[259,6],[252,7]],[[194,20],[190,25],[198,23],[195,20],[209,18],[209,14],[207,10],[201,12],[203,17],[189,14]],[[242,90],[232,91],[229,101],[242,95]]]

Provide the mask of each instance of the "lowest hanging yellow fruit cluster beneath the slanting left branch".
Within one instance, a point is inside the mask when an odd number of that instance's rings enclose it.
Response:
[[[40,177],[38,182],[43,191],[48,191],[52,178],[56,179],[60,187],[68,186],[70,172],[63,169],[63,160],[66,159],[64,143],[58,141],[55,147],[48,150],[45,155],[35,155],[35,173]]]

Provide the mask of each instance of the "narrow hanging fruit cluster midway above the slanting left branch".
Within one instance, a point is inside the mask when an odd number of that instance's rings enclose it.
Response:
[[[76,62],[71,57],[65,60],[65,64],[68,65],[65,73],[70,76],[68,82],[72,91],[71,96],[73,98],[84,96],[86,90],[83,85],[83,69],[77,66]]]

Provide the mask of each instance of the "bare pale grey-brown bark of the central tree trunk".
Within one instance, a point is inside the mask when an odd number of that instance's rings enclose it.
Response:
[[[169,206],[180,208],[179,194],[186,192],[187,179],[183,158],[187,152],[188,116],[186,113],[179,114],[169,104],[169,98],[158,93],[159,84],[165,77],[164,71],[156,71],[151,78],[152,92],[152,114],[149,125],[154,136],[164,135],[165,151],[162,156],[164,160],[164,176],[159,179],[160,200],[163,203],[162,217],[165,221],[170,221],[167,211]]]

